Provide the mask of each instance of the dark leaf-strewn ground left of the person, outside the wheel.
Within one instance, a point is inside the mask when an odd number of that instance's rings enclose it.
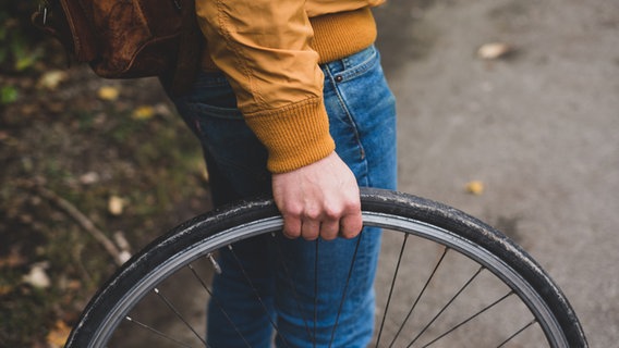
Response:
[[[0,347],[62,347],[137,251],[209,209],[193,136],[157,79],[106,80],[0,8]]]

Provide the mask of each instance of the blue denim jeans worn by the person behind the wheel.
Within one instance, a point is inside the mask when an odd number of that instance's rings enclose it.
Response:
[[[395,99],[378,52],[369,47],[321,69],[336,151],[360,186],[395,189]],[[216,206],[270,192],[267,152],[245,125],[223,75],[203,73],[174,103],[202,142]],[[214,278],[208,307],[209,346],[270,347],[277,327],[278,346],[313,347],[315,337],[325,347],[335,331],[331,347],[365,347],[374,330],[379,248],[380,231],[366,227],[354,239],[258,236],[234,244],[234,252],[221,250],[222,273]]]

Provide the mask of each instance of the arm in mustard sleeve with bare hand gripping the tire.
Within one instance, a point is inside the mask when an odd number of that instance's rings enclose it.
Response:
[[[215,64],[268,151],[272,191],[291,237],[361,231],[356,179],[333,152],[324,76],[301,0],[203,0],[197,11]]]

